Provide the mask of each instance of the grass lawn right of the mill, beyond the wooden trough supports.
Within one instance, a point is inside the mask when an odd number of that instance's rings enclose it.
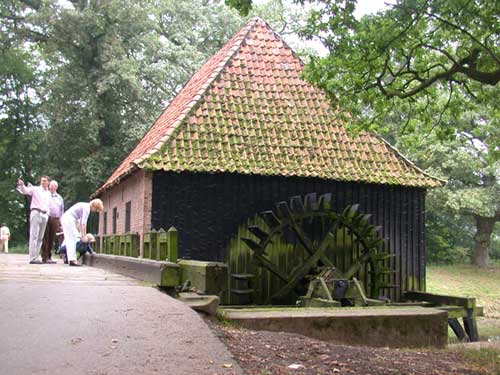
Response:
[[[485,315],[484,318],[478,319],[481,340],[500,340],[500,264],[487,268],[465,264],[429,266],[427,291],[476,297],[477,304],[484,307]]]

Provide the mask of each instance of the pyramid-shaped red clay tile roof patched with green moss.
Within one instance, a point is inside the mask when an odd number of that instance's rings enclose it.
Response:
[[[94,195],[137,168],[441,186],[381,138],[348,136],[303,64],[251,19],[184,86]]]

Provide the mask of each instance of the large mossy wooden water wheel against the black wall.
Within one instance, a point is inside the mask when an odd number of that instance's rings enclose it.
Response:
[[[371,298],[380,296],[383,288],[391,285],[385,275],[393,271],[387,267],[391,255],[384,253],[383,240],[377,228],[369,223],[370,215],[359,211],[359,205],[349,205],[340,212],[332,209],[331,194],[317,198],[315,193],[304,197],[296,196],[290,203],[279,202],[275,210],[258,214],[260,224],[248,225],[247,233],[241,241],[250,249],[252,263],[279,280],[273,287],[265,303],[290,303],[290,295],[300,295],[307,285],[308,278],[318,274],[321,269],[334,269],[336,276],[343,279],[359,277],[363,273],[365,288]],[[342,231],[352,238],[353,248],[349,261],[339,261],[336,238]],[[292,243],[303,254],[293,268],[279,267],[269,248],[276,242]],[[283,250],[287,251],[287,250]],[[342,264],[340,264],[342,263]],[[242,277],[242,272],[232,272],[233,277]],[[245,272],[248,278],[252,272]]]

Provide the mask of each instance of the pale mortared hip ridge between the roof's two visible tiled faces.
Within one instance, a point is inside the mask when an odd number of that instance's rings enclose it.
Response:
[[[231,42],[234,43],[234,45],[227,51],[227,55],[217,64],[215,69],[212,71],[208,79],[203,83],[199,90],[193,95],[192,100],[184,107],[184,109],[181,111],[180,115],[174,120],[174,122],[167,128],[165,135],[160,138],[160,140],[151,147],[149,150],[144,152],[141,156],[136,158],[135,160],[132,161],[132,163],[139,165],[141,162],[143,162],[145,159],[156,153],[164,144],[165,142],[168,141],[168,139],[172,136],[174,131],[179,127],[180,124],[184,121],[186,116],[191,112],[191,110],[198,104],[199,100],[203,97],[203,94],[207,91],[207,89],[210,87],[212,82],[214,82],[217,77],[221,74],[221,72],[224,70],[224,68],[227,66],[228,62],[231,61],[231,58],[238,52],[238,50],[241,48],[242,43],[244,42],[246,36],[252,31],[254,26],[257,24],[257,22],[265,22],[259,17],[252,17],[249,22],[245,25],[240,30],[240,33],[237,35],[234,35],[233,38],[231,38],[224,46],[229,45]],[[246,29],[246,30],[245,30]],[[235,39],[233,41],[233,39]],[[238,40],[239,39],[239,40]],[[224,48],[224,47],[223,47]],[[214,55],[215,56],[215,55]],[[213,57],[212,57],[213,58]],[[209,59],[205,64],[209,64],[210,60]],[[200,71],[203,69],[203,66],[198,70]],[[182,89],[179,91],[179,93],[189,85],[189,82],[195,77],[196,72],[191,76],[188,82],[182,87]],[[173,100],[172,100],[173,102]],[[172,103],[170,102],[170,104]],[[170,104],[165,108],[163,112],[165,112]],[[162,112],[162,113],[163,113]],[[161,116],[161,115],[160,115]]]

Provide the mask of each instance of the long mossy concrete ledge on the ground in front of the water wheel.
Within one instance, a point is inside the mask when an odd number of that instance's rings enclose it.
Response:
[[[299,333],[345,345],[437,347],[448,342],[446,311],[423,307],[220,309],[242,327]]]

